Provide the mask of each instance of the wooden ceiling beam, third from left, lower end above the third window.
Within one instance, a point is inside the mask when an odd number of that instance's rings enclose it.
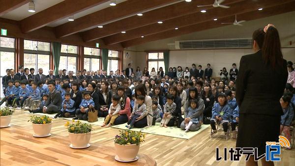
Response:
[[[85,29],[97,28],[99,25],[177,1],[179,0],[127,0],[116,6],[75,19],[74,22],[62,24],[56,27],[56,35],[57,37],[64,37]]]

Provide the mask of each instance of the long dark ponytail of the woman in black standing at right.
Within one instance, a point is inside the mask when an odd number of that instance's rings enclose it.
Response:
[[[265,34],[265,40],[262,46],[262,57],[264,62],[267,65],[271,65],[273,70],[277,65],[283,67],[284,59],[281,51],[279,32],[272,26],[267,28]]]

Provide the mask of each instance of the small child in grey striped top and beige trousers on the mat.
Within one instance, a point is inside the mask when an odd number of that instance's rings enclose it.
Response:
[[[166,104],[164,106],[164,114],[163,119],[161,120],[160,127],[167,127],[167,124],[171,119],[174,118],[172,115],[176,111],[176,104],[174,103],[174,97],[171,94],[167,94],[166,96]]]

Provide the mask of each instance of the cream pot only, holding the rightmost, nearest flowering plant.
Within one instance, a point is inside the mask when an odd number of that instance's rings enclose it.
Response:
[[[120,145],[118,143],[115,143],[115,151],[119,160],[132,161],[136,158],[138,154],[139,145],[136,145],[136,144]]]

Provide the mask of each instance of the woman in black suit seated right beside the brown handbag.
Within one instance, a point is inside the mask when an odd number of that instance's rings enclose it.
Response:
[[[101,90],[97,92],[99,97],[99,110],[98,117],[106,117],[109,113],[109,109],[112,103],[112,92],[109,91],[109,83],[102,82]]]

